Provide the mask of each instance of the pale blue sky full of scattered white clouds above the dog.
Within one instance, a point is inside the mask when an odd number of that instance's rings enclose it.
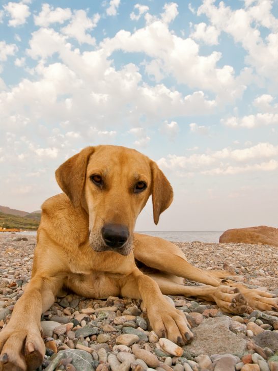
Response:
[[[38,209],[66,158],[108,143],[173,185],[137,230],[277,225],[277,0],[1,4],[0,204]]]

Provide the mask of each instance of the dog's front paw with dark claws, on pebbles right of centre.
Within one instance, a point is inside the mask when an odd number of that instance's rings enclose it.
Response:
[[[147,314],[150,325],[158,337],[168,338],[181,346],[192,340],[193,334],[184,313],[166,300],[159,308],[147,308]]]

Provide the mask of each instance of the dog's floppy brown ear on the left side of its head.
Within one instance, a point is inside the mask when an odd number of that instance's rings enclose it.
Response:
[[[57,183],[71,200],[73,207],[80,205],[87,165],[93,152],[94,147],[86,147],[70,157],[55,171]]]

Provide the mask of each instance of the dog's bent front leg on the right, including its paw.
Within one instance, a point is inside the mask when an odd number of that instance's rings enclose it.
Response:
[[[150,325],[159,337],[166,337],[179,345],[193,338],[184,313],[163,297],[151,277],[139,270],[134,271],[122,287],[121,295],[143,299]]]

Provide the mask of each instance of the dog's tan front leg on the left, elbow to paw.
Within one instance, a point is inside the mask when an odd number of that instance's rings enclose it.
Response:
[[[35,275],[15,304],[11,320],[0,332],[0,370],[31,371],[43,361],[45,347],[40,331],[42,312],[54,302],[58,277]]]

